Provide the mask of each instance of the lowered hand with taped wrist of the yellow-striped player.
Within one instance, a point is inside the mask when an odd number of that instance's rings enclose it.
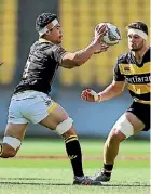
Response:
[[[100,96],[92,89],[83,90],[81,93],[81,99],[88,102],[99,102]]]

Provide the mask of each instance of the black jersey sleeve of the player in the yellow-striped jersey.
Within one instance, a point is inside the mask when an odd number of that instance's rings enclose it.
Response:
[[[113,79],[115,81],[124,81],[125,77],[121,74],[120,67],[119,67],[119,60],[116,60],[114,68],[113,68]]]

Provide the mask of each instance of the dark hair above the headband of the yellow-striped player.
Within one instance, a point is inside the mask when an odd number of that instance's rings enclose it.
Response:
[[[147,24],[142,23],[142,22],[134,22],[134,23],[131,23],[127,27],[127,29],[139,29],[143,33],[146,33],[148,35],[148,26]]]

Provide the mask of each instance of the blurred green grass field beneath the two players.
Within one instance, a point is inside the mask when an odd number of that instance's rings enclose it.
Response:
[[[102,165],[104,142],[81,140],[85,174]],[[17,157],[0,159],[0,194],[149,194],[150,143],[121,144],[112,179],[102,186],[76,186],[63,140],[26,140]]]

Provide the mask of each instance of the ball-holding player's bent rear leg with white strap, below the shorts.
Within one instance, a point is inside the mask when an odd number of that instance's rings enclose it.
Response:
[[[14,157],[20,147],[27,124],[8,124],[3,142],[0,143],[0,157]]]

